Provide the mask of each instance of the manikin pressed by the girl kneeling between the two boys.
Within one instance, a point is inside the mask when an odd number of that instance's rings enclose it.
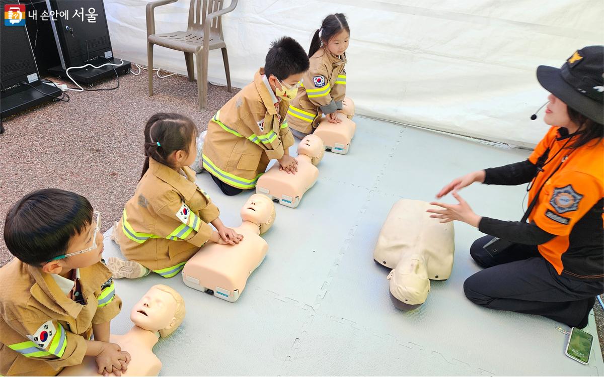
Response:
[[[275,221],[275,206],[262,194],[254,194],[241,209],[243,223],[234,227],[243,235],[236,245],[208,242],[189,259],[182,270],[182,280],[188,287],[211,293],[220,299],[239,299],[249,275],[262,263],[268,244],[260,237]]]

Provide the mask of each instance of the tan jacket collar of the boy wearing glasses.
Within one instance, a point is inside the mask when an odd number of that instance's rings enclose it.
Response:
[[[35,281],[30,289],[31,296],[34,299],[47,308],[69,315],[72,318],[76,318],[80,314],[84,306],[69,299],[50,274],[43,273],[42,268],[24,265]],[[111,277],[111,272],[104,268],[101,262],[80,268],[80,285],[82,286],[83,296],[87,300],[94,297],[94,291],[109,280],[109,277]]]

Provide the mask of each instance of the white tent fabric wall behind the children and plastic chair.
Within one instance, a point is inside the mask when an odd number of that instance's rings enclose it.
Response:
[[[114,55],[147,61],[146,1],[105,0]],[[186,30],[189,0],[156,8],[157,33]],[[532,147],[547,130],[529,116],[546,101],[538,65],[561,66],[602,44],[600,0],[240,0],[223,17],[236,86],[252,80],[271,40],[305,49],[324,16],[351,29],[347,93],[361,115]],[[186,73],[182,52],[155,48],[155,66]],[[208,76],[225,81],[220,51]]]

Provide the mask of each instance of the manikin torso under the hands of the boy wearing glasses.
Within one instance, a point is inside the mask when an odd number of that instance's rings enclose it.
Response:
[[[157,376],[161,370],[161,361],[153,353],[153,346],[158,341],[156,333],[133,326],[124,335],[111,334],[109,341],[118,344],[121,350],[130,353],[132,360],[122,376]],[[97,373],[97,364],[92,356],[85,356],[82,364],[66,367],[59,376],[102,376]],[[114,376],[111,373],[110,376]]]

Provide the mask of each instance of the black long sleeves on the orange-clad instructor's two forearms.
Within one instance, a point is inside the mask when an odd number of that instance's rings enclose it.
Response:
[[[529,160],[510,163],[498,168],[484,169],[484,184],[516,186],[531,182],[537,173],[537,166]],[[478,230],[488,235],[525,245],[540,245],[550,241],[554,235],[539,228],[535,223],[503,221],[483,217]]]

